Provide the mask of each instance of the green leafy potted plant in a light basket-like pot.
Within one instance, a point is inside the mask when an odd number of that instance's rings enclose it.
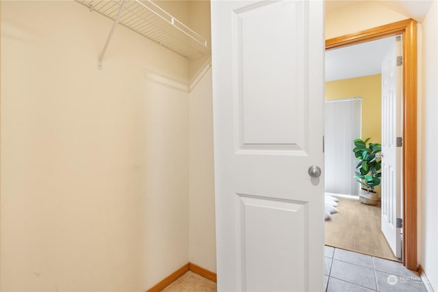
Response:
[[[355,177],[362,186],[362,191],[359,193],[360,200],[363,204],[376,205],[378,202],[377,192],[374,187],[381,184],[381,151],[382,146],[378,143],[367,142],[370,138],[355,139],[355,157],[357,162]]]

